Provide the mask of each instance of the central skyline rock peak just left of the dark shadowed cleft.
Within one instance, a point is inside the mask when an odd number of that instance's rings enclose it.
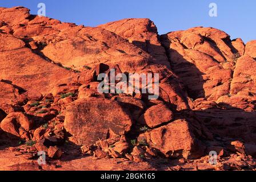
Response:
[[[102,28],[120,35],[135,46],[148,52],[155,58],[154,63],[164,64],[170,68],[165,48],[161,46],[157,27],[147,18],[123,19],[117,22],[102,24]]]

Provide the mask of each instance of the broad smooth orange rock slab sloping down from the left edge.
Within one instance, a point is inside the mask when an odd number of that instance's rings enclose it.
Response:
[[[2,80],[24,90],[37,89],[46,94],[53,86],[71,82],[77,77],[75,73],[42,59],[12,35],[2,36],[0,41],[3,45],[0,51]],[[11,44],[5,43],[9,41]]]

